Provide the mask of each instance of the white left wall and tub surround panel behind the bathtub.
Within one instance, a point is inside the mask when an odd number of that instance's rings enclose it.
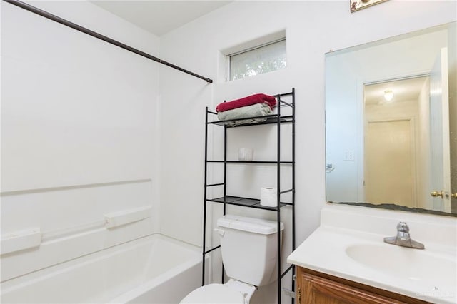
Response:
[[[159,54],[158,37],[89,2],[31,4]],[[2,255],[2,280],[154,233],[158,64],[4,1],[1,43],[2,238],[43,238]],[[141,206],[151,218],[104,228]]]

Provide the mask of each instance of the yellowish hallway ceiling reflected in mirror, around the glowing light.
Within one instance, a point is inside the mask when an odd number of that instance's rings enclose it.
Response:
[[[366,104],[378,104],[384,101],[384,91],[393,91],[393,101],[411,101],[418,98],[427,77],[387,81],[365,86]]]

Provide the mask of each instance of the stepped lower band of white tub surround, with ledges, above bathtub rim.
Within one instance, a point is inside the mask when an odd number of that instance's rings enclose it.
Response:
[[[42,232],[34,228],[2,235],[1,283],[151,234],[150,206],[108,214],[67,229]],[[107,219],[113,220],[111,226]]]

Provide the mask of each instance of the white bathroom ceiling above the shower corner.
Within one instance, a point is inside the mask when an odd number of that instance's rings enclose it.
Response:
[[[161,36],[232,1],[93,0],[91,2],[156,36]]]

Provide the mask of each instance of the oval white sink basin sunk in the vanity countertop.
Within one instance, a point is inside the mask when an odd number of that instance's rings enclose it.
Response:
[[[381,243],[350,245],[346,255],[368,268],[396,278],[421,280],[436,288],[457,284],[457,265],[454,260],[428,253],[427,250],[405,248]],[[443,278],[447,278],[443,280]]]

